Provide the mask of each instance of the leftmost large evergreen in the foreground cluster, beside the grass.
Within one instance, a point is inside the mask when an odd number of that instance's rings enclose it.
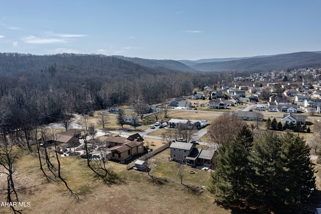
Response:
[[[245,146],[237,141],[219,149],[210,188],[218,204],[232,210],[246,207],[244,202],[249,188],[248,154]]]

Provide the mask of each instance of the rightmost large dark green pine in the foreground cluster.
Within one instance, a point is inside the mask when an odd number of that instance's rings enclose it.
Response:
[[[314,167],[310,162],[310,148],[303,137],[286,133],[282,136],[282,159],[288,190],[287,203],[295,207],[302,200],[308,200],[315,189]]]

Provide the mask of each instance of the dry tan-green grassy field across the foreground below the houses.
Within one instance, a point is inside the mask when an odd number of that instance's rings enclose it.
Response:
[[[52,154],[53,155],[53,154]],[[30,202],[23,213],[230,213],[214,203],[213,195],[206,189],[210,184],[210,172],[185,168],[183,183],[176,173],[176,162],[169,162],[170,150],[153,157],[156,167],[150,172],[127,171],[125,165],[108,162],[108,167],[121,179],[116,184],[96,180],[79,157],[60,158],[62,176],[79,200],[68,193],[62,182],[48,183],[39,169],[36,157],[25,152],[17,164],[20,183],[20,201]],[[54,159],[52,159],[55,163]],[[43,160],[44,161],[44,160]],[[45,167],[45,166],[44,166]],[[52,176],[53,177],[53,176]],[[191,187],[203,186],[203,193],[191,191]],[[198,188],[200,189],[200,188]],[[0,200],[6,201],[1,192]],[[179,204],[183,204],[181,206]],[[20,208],[20,207],[17,207]],[[11,213],[8,207],[1,213]]]

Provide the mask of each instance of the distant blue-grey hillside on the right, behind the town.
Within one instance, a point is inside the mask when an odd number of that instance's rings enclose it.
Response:
[[[321,54],[315,52],[297,52],[263,58],[250,58],[226,62],[199,63],[191,66],[200,71],[265,71],[287,68],[321,67]]]

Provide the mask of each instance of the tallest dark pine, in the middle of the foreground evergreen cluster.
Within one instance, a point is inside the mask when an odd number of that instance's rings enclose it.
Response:
[[[281,162],[281,141],[274,132],[266,132],[253,143],[249,156],[251,191],[248,203],[257,212],[282,213],[286,195],[284,170]]]

